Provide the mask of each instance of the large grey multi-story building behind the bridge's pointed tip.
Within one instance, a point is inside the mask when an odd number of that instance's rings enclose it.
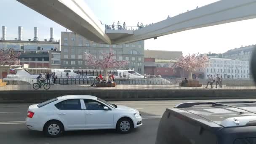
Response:
[[[94,43],[73,32],[61,32],[61,68],[97,69],[85,64],[85,52],[103,59],[103,53],[109,53],[109,48],[115,53],[114,59],[130,61],[125,69],[144,74],[144,41],[107,45]]]

